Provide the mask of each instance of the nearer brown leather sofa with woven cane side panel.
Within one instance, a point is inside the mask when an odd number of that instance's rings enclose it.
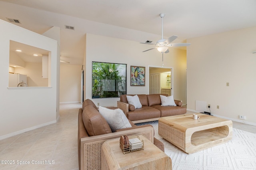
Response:
[[[101,147],[103,142],[121,135],[143,135],[164,152],[164,144],[154,138],[151,125],[136,126],[112,132],[107,121],[100,115],[96,105],[86,99],[78,112],[78,164],[79,169],[100,169]]]

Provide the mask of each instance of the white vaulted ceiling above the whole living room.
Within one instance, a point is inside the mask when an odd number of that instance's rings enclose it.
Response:
[[[164,37],[179,36],[174,42],[256,26],[256,0],[0,0],[2,20],[18,19],[16,25],[39,34],[60,27],[62,59],[79,65],[86,33],[155,43],[160,13]]]

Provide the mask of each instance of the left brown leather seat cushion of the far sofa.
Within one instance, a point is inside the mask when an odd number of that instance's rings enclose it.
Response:
[[[153,119],[161,117],[161,112],[158,109],[149,106],[142,106],[140,109],[135,109],[135,111],[128,112],[126,117],[130,121],[138,121],[144,119]]]

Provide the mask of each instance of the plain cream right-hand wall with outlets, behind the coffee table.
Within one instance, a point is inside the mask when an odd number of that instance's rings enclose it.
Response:
[[[187,42],[187,108],[206,101],[214,115],[256,125],[256,27]]]

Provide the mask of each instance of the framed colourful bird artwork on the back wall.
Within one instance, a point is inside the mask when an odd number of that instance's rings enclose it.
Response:
[[[145,86],[145,67],[131,66],[131,86]]]

